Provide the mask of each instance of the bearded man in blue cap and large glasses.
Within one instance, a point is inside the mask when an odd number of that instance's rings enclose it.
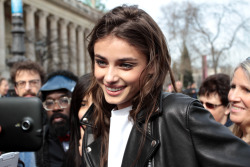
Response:
[[[47,112],[44,142],[37,153],[37,164],[43,167],[62,166],[69,147],[69,109],[71,93],[78,78],[70,71],[59,70],[49,74],[40,89],[43,107]]]

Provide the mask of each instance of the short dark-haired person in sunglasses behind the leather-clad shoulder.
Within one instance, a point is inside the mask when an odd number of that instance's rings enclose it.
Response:
[[[230,77],[226,74],[214,74],[207,77],[201,84],[198,95],[199,100],[213,115],[214,119],[230,127],[233,123],[229,118]]]

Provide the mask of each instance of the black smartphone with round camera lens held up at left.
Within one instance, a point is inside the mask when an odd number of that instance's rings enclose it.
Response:
[[[43,106],[37,97],[0,98],[0,151],[37,151],[43,140]]]

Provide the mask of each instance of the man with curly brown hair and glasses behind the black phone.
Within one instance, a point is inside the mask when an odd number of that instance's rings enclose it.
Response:
[[[24,61],[14,64],[11,69],[11,80],[17,96],[37,96],[45,79],[45,72],[42,66],[33,61]],[[20,152],[20,160],[25,167],[35,167],[36,159],[34,152]]]

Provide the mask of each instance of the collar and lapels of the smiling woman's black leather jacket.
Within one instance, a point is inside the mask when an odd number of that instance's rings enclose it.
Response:
[[[150,119],[152,119],[153,117],[159,115],[162,113],[162,100],[163,98],[165,98],[166,96],[168,96],[170,93],[161,93],[158,97],[158,109],[156,112],[154,112],[151,116]],[[86,112],[86,114],[83,116],[83,118],[81,119],[81,123],[89,126],[89,127],[93,127],[91,125],[91,122],[89,122],[89,118],[92,115],[92,111],[93,111],[93,104],[91,105],[91,107],[88,109],[88,111]],[[129,139],[128,139],[128,144],[126,146],[125,149],[125,153],[124,153],[124,157],[123,157],[123,161],[122,161],[122,167],[127,167],[127,166],[131,166],[133,162],[135,162],[136,158],[137,158],[137,154],[138,154],[138,150],[140,145],[139,144],[135,144],[135,143],[140,143],[142,136],[144,135],[142,130],[139,130],[138,127],[140,125],[138,125],[138,123],[143,123],[145,122],[145,114],[144,114],[145,110],[141,110],[140,113],[138,114],[138,122],[136,122],[131,130]],[[148,125],[148,131],[149,128],[153,128],[154,122],[152,122],[151,124],[149,123]],[[136,127],[137,126],[137,127]],[[99,155],[100,155],[100,137],[97,138],[96,140],[94,140],[93,137],[91,137],[93,134],[91,134],[91,128],[87,128],[88,132],[84,135],[84,140],[86,143],[86,150],[91,150],[88,153],[85,153],[85,159],[88,159],[88,163],[90,163],[90,166],[99,166]],[[90,130],[90,131],[89,131]],[[146,138],[145,138],[145,143],[142,147],[141,150],[141,156],[138,159],[138,161],[136,162],[135,166],[145,166],[145,164],[149,161],[149,159],[152,157],[152,155],[156,152],[157,148],[160,145],[160,141],[155,138],[152,134],[150,133],[146,133]],[[85,151],[86,151],[85,150]]]

